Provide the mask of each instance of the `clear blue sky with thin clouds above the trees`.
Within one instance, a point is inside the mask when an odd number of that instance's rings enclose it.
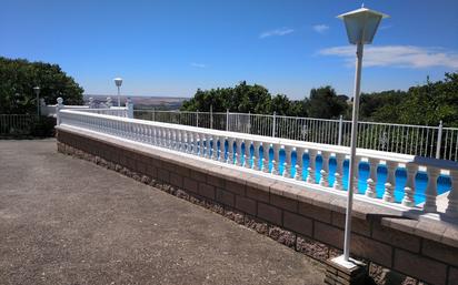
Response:
[[[362,91],[458,70],[458,1],[370,0],[391,16],[366,47]],[[86,93],[190,96],[241,80],[303,98],[351,94],[354,51],[336,16],[351,0],[1,0],[0,54],[58,63]]]

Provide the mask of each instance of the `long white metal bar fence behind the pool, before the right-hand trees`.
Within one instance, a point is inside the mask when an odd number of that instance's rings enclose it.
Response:
[[[315,143],[350,145],[351,121],[265,115],[135,110],[136,119],[276,136]],[[358,123],[358,147],[458,161],[458,129],[426,125]]]

